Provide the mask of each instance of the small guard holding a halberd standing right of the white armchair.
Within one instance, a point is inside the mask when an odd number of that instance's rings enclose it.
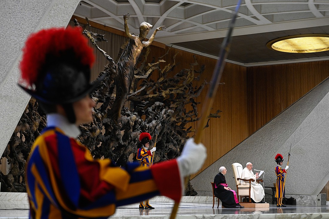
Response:
[[[282,169],[281,165],[283,162],[283,157],[281,154],[277,154],[275,156],[275,162],[278,164],[275,167],[275,174],[277,176],[276,179],[276,192],[275,192],[275,198],[276,198],[276,206],[277,207],[286,207],[282,204],[282,198],[285,197],[285,190],[283,188],[283,183],[285,180],[285,173],[287,173],[287,170],[289,166],[286,166],[286,168]]]

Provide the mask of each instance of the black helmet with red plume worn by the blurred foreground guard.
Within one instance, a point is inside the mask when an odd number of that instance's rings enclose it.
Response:
[[[46,104],[69,104],[84,98],[104,79],[89,83],[92,48],[80,28],[51,28],[32,34],[23,48],[19,84]]]

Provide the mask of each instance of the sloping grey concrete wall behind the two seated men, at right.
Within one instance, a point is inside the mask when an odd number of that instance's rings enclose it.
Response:
[[[273,186],[274,157],[282,154],[286,166],[291,145],[286,194],[319,194],[329,180],[328,91],[327,79],[193,178],[194,189],[201,194],[212,191],[210,182],[218,168],[225,166],[226,180],[236,190],[232,170],[235,162],[243,167],[252,162],[254,169],[265,170],[265,186]]]

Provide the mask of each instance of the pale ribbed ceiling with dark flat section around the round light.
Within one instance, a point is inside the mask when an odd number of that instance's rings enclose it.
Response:
[[[74,15],[139,34],[146,21],[165,25],[155,40],[217,58],[238,0],[84,0]],[[266,47],[272,39],[296,34],[329,34],[329,0],[242,0],[227,61],[244,66],[328,60],[329,52],[284,53]],[[149,36],[148,36],[149,37]]]

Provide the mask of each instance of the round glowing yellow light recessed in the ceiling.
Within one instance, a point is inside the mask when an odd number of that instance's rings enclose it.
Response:
[[[267,48],[286,53],[314,53],[329,50],[329,34],[298,34],[266,43]]]

